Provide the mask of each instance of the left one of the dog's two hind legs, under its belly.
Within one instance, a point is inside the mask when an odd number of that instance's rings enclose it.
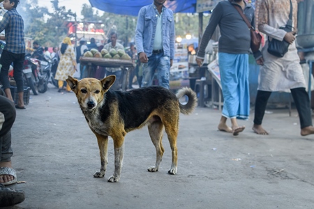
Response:
[[[156,163],[154,167],[149,167],[149,172],[156,172],[159,169],[159,164],[162,160],[165,149],[163,148],[163,123],[161,121],[154,121],[148,125],[149,136],[156,148]]]

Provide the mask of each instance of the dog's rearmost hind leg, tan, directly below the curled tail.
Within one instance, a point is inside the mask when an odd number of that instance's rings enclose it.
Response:
[[[177,174],[177,161],[178,161],[178,149],[177,149],[177,137],[179,125],[178,121],[172,121],[172,123],[165,123],[165,132],[167,133],[167,137],[169,139],[171,153],[172,153],[172,164],[169,174]]]

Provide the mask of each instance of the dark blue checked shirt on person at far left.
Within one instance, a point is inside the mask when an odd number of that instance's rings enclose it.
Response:
[[[24,21],[16,8],[8,10],[0,22],[0,31],[5,30],[6,46],[4,50],[14,54],[25,53]]]

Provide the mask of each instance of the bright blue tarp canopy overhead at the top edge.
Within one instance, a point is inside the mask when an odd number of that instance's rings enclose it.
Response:
[[[140,8],[154,0],[89,0],[92,7],[107,13],[137,16]],[[196,13],[196,0],[167,0],[164,4],[174,13]]]

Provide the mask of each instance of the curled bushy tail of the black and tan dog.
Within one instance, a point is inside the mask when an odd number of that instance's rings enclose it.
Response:
[[[179,102],[179,107],[182,114],[191,114],[197,105],[196,93],[191,88],[184,87],[181,88],[176,95],[178,99],[182,98],[184,95],[188,96],[188,103],[181,104]]]

